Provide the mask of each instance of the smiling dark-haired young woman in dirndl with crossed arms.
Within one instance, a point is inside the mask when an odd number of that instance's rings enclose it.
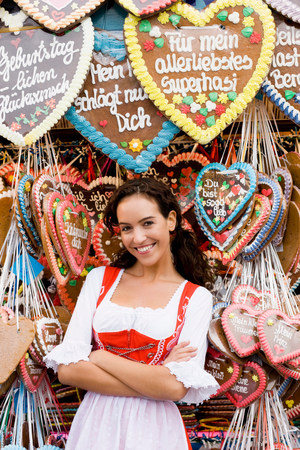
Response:
[[[67,449],[189,449],[174,401],[201,403],[218,389],[203,369],[209,266],[158,181],[122,185],[104,221],[124,249],[114,267],[89,273],[63,343],[45,358],[62,383],[88,391]]]

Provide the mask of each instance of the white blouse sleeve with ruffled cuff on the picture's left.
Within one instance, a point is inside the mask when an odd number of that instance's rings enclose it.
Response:
[[[92,351],[93,316],[103,275],[104,267],[97,267],[87,275],[62,344],[57,345],[44,357],[46,366],[55,372],[59,364],[88,361]]]

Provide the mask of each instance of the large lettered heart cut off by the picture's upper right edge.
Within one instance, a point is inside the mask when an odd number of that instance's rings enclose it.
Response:
[[[281,2],[284,3],[284,2]],[[298,17],[300,7],[298,6]],[[277,30],[272,65],[262,85],[269,99],[291,120],[300,125],[300,24],[274,13]],[[294,18],[293,18],[294,20]]]

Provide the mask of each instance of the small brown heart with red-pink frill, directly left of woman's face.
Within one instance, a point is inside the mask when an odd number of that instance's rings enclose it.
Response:
[[[104,222],[100,220],[93,233],[93,247],[95,255],[103,265],[110,265],[114,256],[123,248],[121,236],[111,234]]]

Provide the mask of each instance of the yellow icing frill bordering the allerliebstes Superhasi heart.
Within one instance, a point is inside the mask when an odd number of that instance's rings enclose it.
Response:
[[[259,16],[263,28],[263,38],[261,44],[261,54],[256,68],[237,98],[231,103],[220,118],[216,120],[215,125],[202,130],[199,126],[181,113],[174,104],[169,103],[163,92],[157,86],[156,82],[150,76],[143,60],[141,46],[137,39],[136,27],[141,19],[129,16],[125,20],[124,35],[128,48],[129,59],[133,72],[140,81],[145,92],[154,104],[166,115],[173,123],[180,127],[185,133],[191,136],[195,141],[201,144],[207,144],[214,139],[224,128],[233,122],[253,100],[259,90],[264,78],[269,72],[273,51],[275,48],[275,24],[269,7],[261,0],[217,0],[199,12],[186,3],[176,3],[169,11],[188,19],[194,26],[205,26],[210,20],[224,8],[234,6],[245,6],[253,8]]]

